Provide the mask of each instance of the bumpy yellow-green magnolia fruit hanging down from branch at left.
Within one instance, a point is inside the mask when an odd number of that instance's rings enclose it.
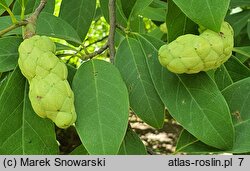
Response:
[[[55,44],[46,36],[36,35],[24,40],[18,51],[18,64],[29,81],[34,111],[59,128],[72,125],[76,121],[74,94],[67,81],[67,67],[55,56]]]

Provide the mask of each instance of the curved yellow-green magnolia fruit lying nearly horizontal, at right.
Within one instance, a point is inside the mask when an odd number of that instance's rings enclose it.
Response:
[[[186,34],[159,49],[158,59],[171,72],[193,74],[218,68],[232,55],[233,29],[223,22],[220,32],[203,29],[198,35]]]

